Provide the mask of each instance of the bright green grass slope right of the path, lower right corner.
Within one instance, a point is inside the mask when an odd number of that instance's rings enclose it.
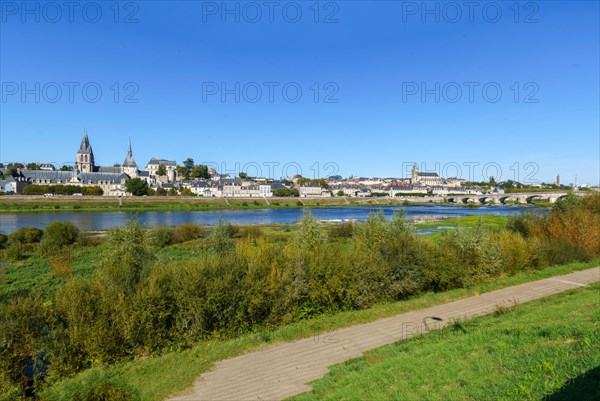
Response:
[[[291,400],[597,400],[598,290],[595,284],[369,351]]]

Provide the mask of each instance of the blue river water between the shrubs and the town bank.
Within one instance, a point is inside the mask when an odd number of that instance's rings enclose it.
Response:
[[[221,211],[173,211],[173,212],[54,212],[54,213],[0,213],[0,232],[10,234],[21,227],[39,227],[52,221],[70,221],[83,231],[108,230],[121,226],[137,216],[144,226],[176,226],[182,223],[215,225],[219,219],[232,224],[292,224],[299,221],[304,211],[309,211],[318,220],[348,221],[365,220],[369,213],[382,211],[391,218],[396,210],[404,207],[412,220],[441,219],[463,216],[509,216],[520,213],[523,206],[484,206],[464,208],[450,205],[407,205],[407,206],[347,206],[320,208],[290,208],[264,210],[221,210]]]

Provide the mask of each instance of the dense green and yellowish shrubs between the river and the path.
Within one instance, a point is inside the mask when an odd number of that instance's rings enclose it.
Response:
[[[226,222],[207,232],[135,221],[105,239],[69,223],[11,234],[1,251],[4,279],[45,270],[51,285],[36,287],[33,277],[0,293],[0,394],[139,399],[130,384],[106,376],[63,383],[264,328],[600,255],[597,194],[567,197],[505,229],[479,224],[435,238],[416,235],[404,217],[373,214],[326,227],[306,214],[296,233],[279,236]]]

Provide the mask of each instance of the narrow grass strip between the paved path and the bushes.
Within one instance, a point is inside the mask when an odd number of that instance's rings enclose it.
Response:
[[[274,330],[265,328],[256,333],[234,339],[215,339],[192,349],[174,351],[158,357],[143,358],[111,367],[94,367],[73,378],[56,383],[42,393],[48,400],[72,399],[75,392],[90,388],[95,383],[111,380],[132,389],[140,400],[162,400],[181,392],[193,384],[219,360],[257,350],[268,344],[310,337],[354,324],[366,323],[410,310],[462,299],[528,281],[539,280],[597,266],[600,260],[553,266],[542,270],[517,274],[484,285],[443,293],[428,293],[414,299],[376,305],[373,308],[324,315],[311,320],[286,325]]]

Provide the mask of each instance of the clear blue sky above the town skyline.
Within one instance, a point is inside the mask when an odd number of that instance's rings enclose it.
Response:
[[[596,1],[0,4],[3,162],[599,182]]]

